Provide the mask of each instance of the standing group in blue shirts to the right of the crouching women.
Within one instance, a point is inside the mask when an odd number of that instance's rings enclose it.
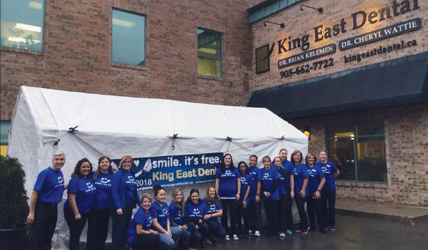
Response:
[[[281,149],[273,160],[269,156],[263,157],[263,168],[259,169],[256,155],[249,157],[249,166],[242,161],[237,168],[232,155],[224,155],[216,171],[215,188],[223,207],[221,225],[226,229],[225,239],[259,237],[262,234],[262,204],[267,221],[267,231],[263,235],[286,237],[293,233],[293,198],[300,217],[295,232],[307,234],[317,228],[321,233],[335,231],[334,179],[339,170],[327,160],[325,151],[318,156],[319,162],[315,155],[309,153],[303,157],[300,150],[295,150],[288,161],[288,151]]]

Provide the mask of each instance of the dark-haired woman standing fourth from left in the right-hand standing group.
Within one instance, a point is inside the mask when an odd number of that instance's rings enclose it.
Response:
[[[267,221],[267,237],[274,237],[278,233],[278,201],[279,201],[279,174],[278,171],[271,167],[270,157],[263,157],[264,168],[262,173],[262,194],[263,205],[265,207]]]

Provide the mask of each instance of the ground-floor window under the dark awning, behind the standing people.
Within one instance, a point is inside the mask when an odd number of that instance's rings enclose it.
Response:
[[[387,182],[383,120],[326,126],[330,162],[337,179]]]

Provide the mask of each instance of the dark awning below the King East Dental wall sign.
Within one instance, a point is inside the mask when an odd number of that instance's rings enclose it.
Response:
[[[428,52],[254,91],[248,107],[299,118],[428,102]]]

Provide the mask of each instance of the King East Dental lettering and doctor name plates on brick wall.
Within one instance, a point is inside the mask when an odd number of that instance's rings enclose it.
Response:
[[[276,53],[278,56],[281,56],[283,54],[292,53],[293,50],[300,49],[302,51],[302,53],[300,54],[280,58],[278,60],[279,69],[286,68],[293,64],[302,63],[304,61],[310,61],[316,58],[334,54],[336,52],[336,44],[334,43],[316,48],[313,48],[313,44],[316,45],[318,42],[323,42],[325,44],[325,40],[343,36],[342,34],[345,34],[348,31],[355,31],[361,29],[363,26],[365,28],[369,28],[369,26],[367,25],[377,25],[379,22],[393,19],[394,17],[397,17],[399,15],[406,15],[407,13],[411,13],[412,11],[419,9],[420,6],[418,0],[393,0],[392,2],[390,2],[389,6],[379,8],[378,10],[357,10],[354,13],[350,14],[350,19],[349,17],[341,18],[338,22],[329,24],[327,26],[325,24],[315,26],[312,29],[312,34],[307,33],[304,36],[300,36],[297,38],[293,37],[290,34],[287,34],[288,36],[286,36],[286,38],[276,40],[276,42],[272,42],[270,45],[268,44],[263,46],[267,55],[263,57],[263,60],[256,60],[256,68],[260,68],[258,67],[259,63],[266,63],[266,56],[268,58],[274,53]],[[420,28],[421,19],[414,18],[406,22],[399,22],[397,24],[393,24],[383,29],[378,29],[369,33],[364,33],[359,36],[340,40],[338,42],[338,46],[340,51],[344,51],[353,47],[367,45],[371,42],[377,42],[379,40],[392,38],[394,36],[400,36],[404,33],[409,33],[411,31],[417,31]],[[412,42],[412,44],[416,43]],[[261,48],[262,47],[259,47],[257,49],[260,50]],[[313,65],[313,68],[315,68],[315,65]],[[260,74],[269,70],[270,69],[268,67],[265,67],[263,71],[258,70],[257,73]],[[294,71],[295,69],[291,69],[291,72]],[[305,70],[305,72],[308,71]],[[282,77],[283,75],[281,75],[281,78]]]

